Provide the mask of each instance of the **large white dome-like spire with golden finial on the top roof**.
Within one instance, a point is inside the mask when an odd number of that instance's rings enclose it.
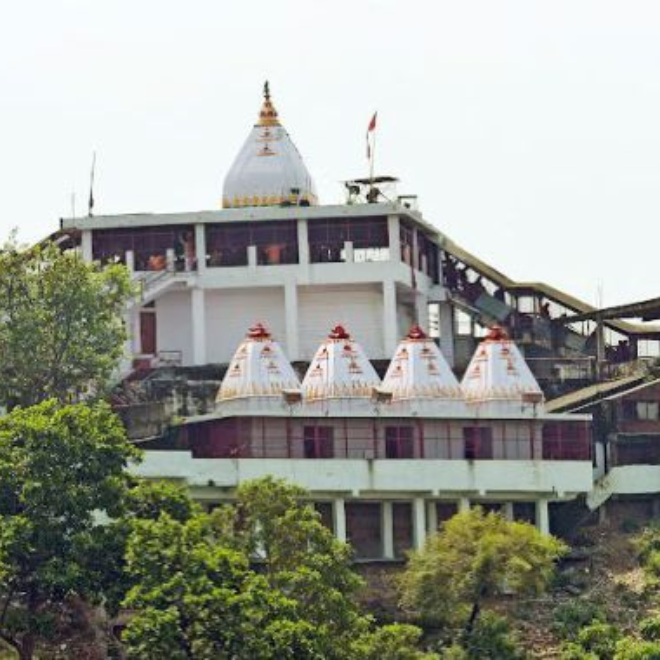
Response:
[[[312,177],[280,124],[266,83],[259,121],[225,177],[222,206],[312,206],[316,203]]]

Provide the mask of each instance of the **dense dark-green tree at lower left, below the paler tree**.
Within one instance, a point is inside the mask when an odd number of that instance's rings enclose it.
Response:
[[[105,404],[46,401],[0,418],[0,638],[22,659],[68,597],[102,597],[90,557],[138,456]]]

